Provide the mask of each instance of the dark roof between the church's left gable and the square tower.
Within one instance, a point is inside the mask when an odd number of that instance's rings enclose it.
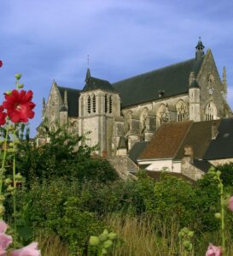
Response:
[[[64,93],[67,91],[67,104],[68,104],[68,116],[79,116],[79,94],[80,90],[57,86],[62,100],[64,100]]]

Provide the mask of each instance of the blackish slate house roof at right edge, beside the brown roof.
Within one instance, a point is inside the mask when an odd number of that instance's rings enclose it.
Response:
[[[233,158],[233,118],[222,119],[218,136],[212,140],[204,159]]]

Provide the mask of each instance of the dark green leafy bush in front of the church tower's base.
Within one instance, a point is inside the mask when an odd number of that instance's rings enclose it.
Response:
[[[118,178],[107,160],[91,158],[96,147],[86,146],[84,138],[69,134],[66,128],[50,131],[50,143],[37,147],[25,140],[19,146],[18,169],[26,177],[27,186],[39,180],[66,177],[67,180],[112,182]],[[80,145],[78,147],[78,144]]]

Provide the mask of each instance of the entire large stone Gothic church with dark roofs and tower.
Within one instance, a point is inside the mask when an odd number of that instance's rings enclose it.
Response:
[[[47,104],[43,103],[38,145],[48,139],[50,128],[67,126],[98,146],[104,156],[126,155],[138,141],[149,141],[163,122],[217,120],[232,116],[226,102],[227,82],[222,80],[211,50],[205,54],[201,40],[195,57],[182,63],[110,83],[87,70],[82,90],[53,82]],[[168,134],[169,135],[169,134]]]

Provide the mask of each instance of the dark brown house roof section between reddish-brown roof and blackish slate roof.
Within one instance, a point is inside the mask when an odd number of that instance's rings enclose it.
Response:
[[[193,122],[189,134],[186,135],[183,143],[179,146],[175,158],[183,158],[184,147],[191,146],[194,153],[193,158],[202,159],[212,141],[213,122],[218,125],[220,120]]]

